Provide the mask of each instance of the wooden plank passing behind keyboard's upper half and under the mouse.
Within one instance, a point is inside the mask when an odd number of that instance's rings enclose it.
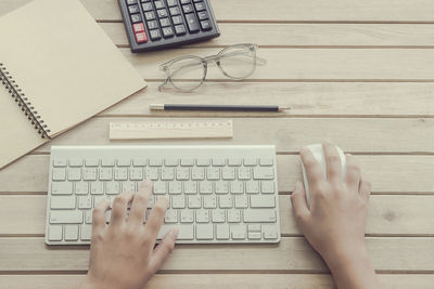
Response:
[[[432,194],[434,156],[356,156],[374,194]],[[26,156],[0,171],[0,192],[47,192],[48,155]],[[278,156],[279,192],[302,180],[298,156]]]

